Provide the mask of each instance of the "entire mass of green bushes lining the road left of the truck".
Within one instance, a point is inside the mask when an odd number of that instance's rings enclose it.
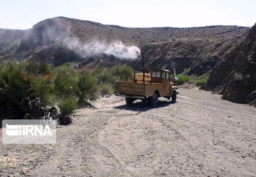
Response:
[[[3,62],[0,65],[0,116],[42,118],[49,115],[49,106],[55,105],[61,124],[68,124],[77,104],[90,104],[98,93],[111,95],[117,80],[132,77],[133,69],[126,65],[77,71],[70,63],[53,68],[36,61]]]

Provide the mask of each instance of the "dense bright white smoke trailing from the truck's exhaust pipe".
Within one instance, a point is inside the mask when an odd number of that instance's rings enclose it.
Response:
[[[93,41],[82,44],[76,39],[65,39],[63,44],[84,58],[105,54],[119,59],[134,60],[140,55],[137,46],[126,46],[121,41],[110,43]]]

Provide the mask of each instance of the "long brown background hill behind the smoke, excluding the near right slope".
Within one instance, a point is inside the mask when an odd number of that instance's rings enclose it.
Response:
[[[39,22],[31,30],[9,30],[9,35],[2,32],[6,30],[0,30],[0,60],[35,59],[54,65],[69,61],[89,68],[129,63],[135,69],[139,68],[139,60],[123,61],[114,55],[94,53],[83,55],[84,48],[79,48],[95,41],[104,44],[121,41],[146,52],[146,62],[150,66],[176,67],[178,73],[192,66],[191,72],[201,74],[212,69],[222,52],[230,48],[232,40],[247,30],[239,26],[124,28],[55,17]]]

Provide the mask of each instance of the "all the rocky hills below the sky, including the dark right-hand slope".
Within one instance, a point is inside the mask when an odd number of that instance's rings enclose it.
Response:
[[[0,61],[33,59],[55,66],[71,62],[79,68],[127,63],[139,69],[140,48],[149,67],[210,74],[206,90],[232,102],[249,103],[256,99],[255,28],[124,28],[55,17],[29,30],[0,29]],[[133,57],[122,52],[133,52]]]

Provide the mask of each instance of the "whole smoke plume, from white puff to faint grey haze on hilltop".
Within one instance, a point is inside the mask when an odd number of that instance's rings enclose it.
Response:
[[[63,26],[61,19],[55,19],[54,24],[44,24],[44,30],[40,31],[44,44],[55,43],[69,48],[82,58],[113,55],[117,59],[135,60],[140,55],[140,50],[137,46],[127,46],[121,41],[105,42],[104,40],[96,40],[96,36],[90,42],[82,42],[79,38],[71,36],[73,33],[71,26],[67,24],[65,24],[65,28],[60,28],[59,26]],[[38,34],[36,33],[34,38],[37,39],[37,36]]]

